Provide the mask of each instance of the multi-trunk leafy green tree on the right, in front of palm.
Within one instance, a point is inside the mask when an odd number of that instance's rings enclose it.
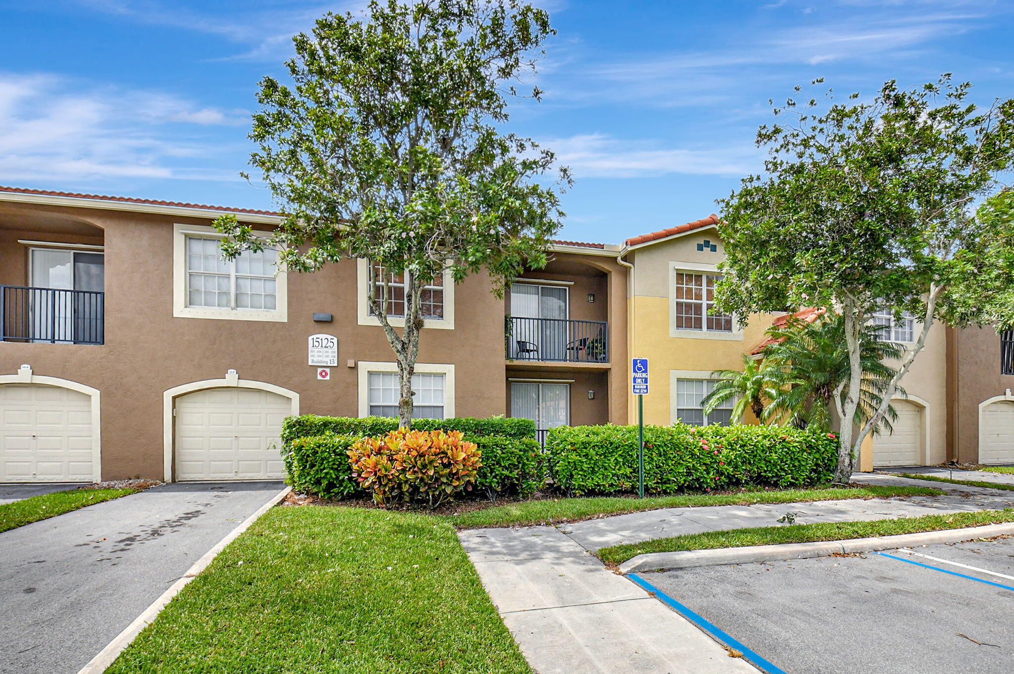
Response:
[[[757,133],[765,170],[720,201],[721,308],[842,314],[850,371],[834,396],[838,481],[849,479],[936,321],[1014,323],[1012,199],[1001,181],[1014,164],[1014,101],[980,107],[969,88],[945,75],[912,89],[890,81],[866,100],[790,98]],[[862,421],[863,328],[881,308],[913,312],[916,335]]]

